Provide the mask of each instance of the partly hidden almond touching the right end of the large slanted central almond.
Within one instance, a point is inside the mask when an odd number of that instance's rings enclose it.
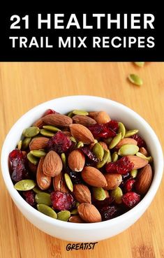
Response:
[[[118,173],[107,173],[104,176],[107,180],[107,187],[104,187],[106,190],[115,189],[121,184],[122,176]]]

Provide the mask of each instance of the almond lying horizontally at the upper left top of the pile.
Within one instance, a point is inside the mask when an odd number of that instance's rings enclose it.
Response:
[[[61,114],[45,115],[42,120],[45,122],[45,124],[54,125],[55,127],[68,127],[73,123],[72,118]]]

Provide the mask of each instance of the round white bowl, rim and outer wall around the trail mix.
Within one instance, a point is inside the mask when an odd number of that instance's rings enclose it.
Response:
[[[129,129],[140,129],[140,135],[147,142],[149,151],[151,152],[152,157],[154,157],[154,178],[146,196],[144,196],[137,206],[132,210],[129,210],[127,213],[124,213],[124,215],[112,220],[91,224],[75,224],[47,217],[46,215],[38,212],[38,210],[32,208],[26,201],[24,201],[24,199],[22,199],[20,194],[13,187],[13,182],[10,179],[10,173],[8,171],[8,154],[17,145],[23,129],[29,127],[34,121],[43,115],[45,110],[48,108],[53,108],[63,114],[74,109],[105,110],[109,113],[110,117],[124,122],[126,127]],[[149,204],[154,199],[163,175],[163,152],[153,129],[151,129],[149,124],[147,124],[140,115],[137,115],[137,113],[130,108],[127,108],[121,103],[97,96],[65,96],[59,99],[53,99],[52,101],[47,101],[35,108],[32,108],[13,125],[3,143],[1,152],[1,169],[3,180],[10,196],[15,202],[15,205],[20,209],[27,220],[38,227],[38,229],[50,234],[51,236],[67,241],[100,241],[105,238],[115,236],[121,231],[128,229],[128,227],[134,224],[148,208]]]

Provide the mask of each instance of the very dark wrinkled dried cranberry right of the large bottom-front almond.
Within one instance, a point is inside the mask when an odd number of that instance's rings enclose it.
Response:
[[[102,220],[111,220],[114,217],[117,217],[119,213],[119,210],[117,208],[117,206],[107,206],[107,207],[103,207],[100,210],[100,215],[102,217]]]

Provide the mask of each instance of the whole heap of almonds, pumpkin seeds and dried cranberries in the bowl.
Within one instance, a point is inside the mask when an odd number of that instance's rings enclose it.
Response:
[[[9,161],[14,187],[29,205],[77,223],[126,213],[147,193],[153,176],[138,130],[105,111],[47,110],[24,129]]]

